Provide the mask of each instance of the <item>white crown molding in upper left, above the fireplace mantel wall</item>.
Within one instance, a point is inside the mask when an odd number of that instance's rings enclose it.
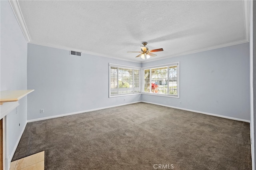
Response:
[[[31,41],[30,35],[28,33],[28,28],[26,26],[26,23],[24,21],[24,18],[22,16],[22,12],[20,10],[20,5],[18,3],[18,0],[8,0],[10,3],[10,6],[12,7],[12,10],[14,12],[14,15],[18,21],[18,24],[20,25],[20,28],[22,30],[22,33],[26,39],[27,42]]]

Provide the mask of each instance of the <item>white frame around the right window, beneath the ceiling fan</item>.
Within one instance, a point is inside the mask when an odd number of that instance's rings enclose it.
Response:
[[[162,94],[162,93],[152,93],[151,88],[150,92],[145,92],[145,83],[144,83],[144,73],[145,70],[150,69],[150,74],[151,74],[151,69],[158,69],[160,67],[170,67],[173,65],[177,65],[177,95],[171,95],[171,94]],[[169,78],[169,77],[168,77]],[[150,84],[152,82],[152,75],[150,75]],[[168,63],[168,64],[162,64],[162,65],[153,65],[150,67],[142,67],[141,69],[141,91],[143,95],[154,95],[154,96],[164,96],[164,97],[172,97],[172,98],[180,98],[180,62],[174,62],[174,63]]]

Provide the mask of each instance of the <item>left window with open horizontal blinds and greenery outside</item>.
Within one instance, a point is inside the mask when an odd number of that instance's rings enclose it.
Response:
[[[109,97],[140,93],[140,68],[110,64]]]

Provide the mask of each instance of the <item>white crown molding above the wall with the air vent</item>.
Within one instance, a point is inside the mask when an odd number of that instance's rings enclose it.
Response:
[[[118,60],[123,60],[123,61],[130,61],[130,62],[133,62],[133,63],[141,63],[141,61],[122,59],[122,58],[118,58],[118,57],[112,57],[112,56],[109,56],[109,55],[103,55],[103,54],[100,54],[100,53],[94,53],[94,52],[91,52],[91,51],[85,51],[85,50],[81,50],[81,49],[64,47],[64,46],[61,46],[61,45],[55,45],[55,44],[51,44],[51,43],[37,42],[37,41],[33,41],[33,40],[30,40],[30,42],[28,42],[28,43],[32,43],[32,44],[36,44],[36,45],[42,45],[42,46],[46,46],[46,47],[64,49],[64,50],[68,50],[68,51],[71,51],[71,50],[72,51],[78,51],[78,52],[86,53],[86,54],[90,54],[90,55],[97,55],[97,56],[100,56],[100,57],[107,57],[107,58],[118,59]]]

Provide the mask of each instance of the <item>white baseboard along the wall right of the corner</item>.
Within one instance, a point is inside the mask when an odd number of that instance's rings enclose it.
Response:
[[[216,114],[213,114],[213,113],[206,113],[206,112],[201,112],[201,111],[194,111],[194,110],[191,110],[191,109],[184,109],[184,108],[181,108],[181,107],[174,107],[174,106],[169,106],[169,105],[162,105],[162,104],[152,103],[152,102],[147,102],[147,101],[142,101],[142,102],[144,102],[144,103],[150,103],[150,104],[153,104],[153,105],[160,105],[160,106],[165,106],[165,107],[171,107],[171,108],[174,108],[174,109],[180,109],[180,110],[184,110],[184,111],[190,111],[190,112],[195,112],[195,113],[201,113],[201,114],[204,114],[204,115],[216,116],[216,117],[221,117],[221,118],[226,118],[226,119],[232,119],[232,120],[235,120],[235,121],[242,121],[242,122],[248,122],[248,123],[250,123],[250,121],[245,120],[245,119],[238,119],[238,118],[234,118],[234,117],[228,117],[228,116],[223,116],[223,115],[216,115]]]

